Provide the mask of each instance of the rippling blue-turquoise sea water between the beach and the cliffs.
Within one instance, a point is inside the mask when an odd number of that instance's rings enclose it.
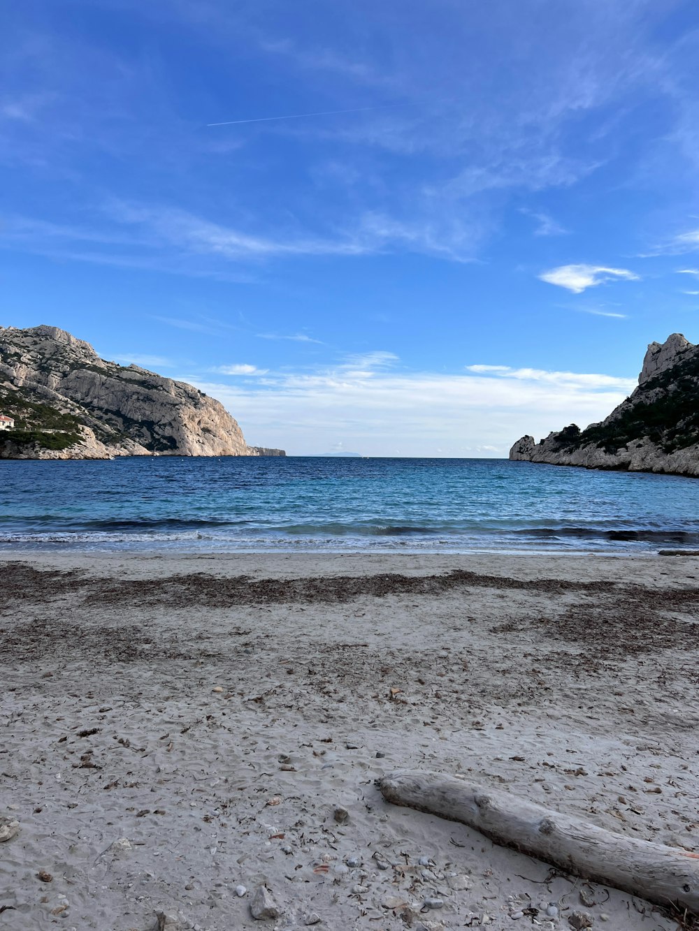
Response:
[[[0,490],[5,550],[699,545],[699,479],[500,459],[6,461]]]

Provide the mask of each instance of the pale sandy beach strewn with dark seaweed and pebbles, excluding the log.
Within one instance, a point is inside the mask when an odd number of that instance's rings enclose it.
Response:
[[[690,926],[375,780],[698,851],[696,557],[0,563],[0,928]]]

